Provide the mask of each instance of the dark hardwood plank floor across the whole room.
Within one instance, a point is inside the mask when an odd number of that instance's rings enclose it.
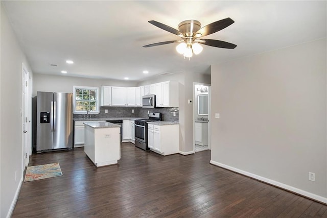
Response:
[[[32,155],[63,176],[24,182],[12,217],[327,217],[327,206],[209,164],[210,151],[160,156],[122,144],[118,165],[74,151]]]

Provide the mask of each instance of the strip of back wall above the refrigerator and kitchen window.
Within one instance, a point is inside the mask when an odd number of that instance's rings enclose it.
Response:
[[[53,92],[73,93],[74,85],[93,86],[93,87],[100,87],[102,85],[133,87],[133,86],[136,86],[136,82],[121,81],[121,80],[109,80],[109,79],[90,79],[90,78],[80,78],[80,77],[69,77],[67,75],[56,76],[56,75],[34,74],[32,96],[35,96],[37,91],[53,91]]]

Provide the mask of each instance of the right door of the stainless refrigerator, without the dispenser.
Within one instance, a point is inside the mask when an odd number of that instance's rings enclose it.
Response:
[[[54,93],[53,149],[73,148],[73,94]]]

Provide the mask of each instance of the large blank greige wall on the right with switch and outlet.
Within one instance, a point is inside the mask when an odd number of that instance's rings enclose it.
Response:
[[[211,162],[327,203],[326,39],[213,65],[211,76]]]

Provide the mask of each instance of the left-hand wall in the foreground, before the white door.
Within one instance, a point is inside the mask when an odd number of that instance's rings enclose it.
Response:
[[[0,4],[2,5],[2,3]],[[31,72],[1,7],[1,73],[0,73],[0,217],[11,214],[23,179],[22,166],[22,62]],[[17,178],[15,179],[15,172]]]

